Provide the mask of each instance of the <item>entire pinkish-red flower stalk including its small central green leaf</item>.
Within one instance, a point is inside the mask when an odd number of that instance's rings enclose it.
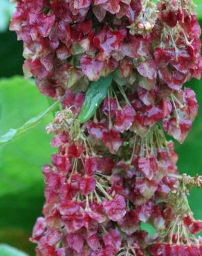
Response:
[[[198,104],[201,29],[191,0],[17,0],[24,73],[62,102],[46,128],[38,256],[202,255],[187,202],[201,176],[177,172]],[[157,234],[148,237],[140,223]]]

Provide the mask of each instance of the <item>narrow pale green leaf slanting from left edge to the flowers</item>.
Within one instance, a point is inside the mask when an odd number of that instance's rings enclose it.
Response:
[[[48,116],[48,114],[51,111],[53,111],[53,109],[55,109],[58,103],[59,101],[53,103],[53,105],[48,107],[48,109],[46,109],[42,113],[39,113],[38,116],[31,118],[30,120],[28,120],[28,122],[26,122],[24,125],[22,125],[18,129],[10,129],[8,132],[6,132],[6,134],[3,134],[2,136],[0,136],[0,145],[4,143],[9,143],[19,138],[20,136],[25,134],[27,131],[30,131],[30,129],[33,129],[36,125],[39,124],[39,122],[42,122],[42,120],[44,120],[44,118],[46,118],[46,116]]]

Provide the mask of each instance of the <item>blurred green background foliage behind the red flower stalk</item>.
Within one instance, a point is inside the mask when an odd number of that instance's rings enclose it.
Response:
[[[195,3],[202,26],[202,2]],[[22,43],[8,30],[14,9],[9,0],[0,1],[0,135],[20,127],[49,106],[33,82],[22,77]],[[194,89],[201,107],[185,143],[176,143],[176,152],[179,172],[194,176],[202,174],[202,80],[192,80],[186,86]],[[28,237],[44,203],[41,168],[53,152],[50,136],[44,131],[50,119],[51,114],[19,140],[0,147],[0,244],[10,244],[30,256],[35,255],[35,246]],[[202,190],[193,189],[189,199],[194,217],[202,219]],[[0,245],[0,255],[25,254]]]

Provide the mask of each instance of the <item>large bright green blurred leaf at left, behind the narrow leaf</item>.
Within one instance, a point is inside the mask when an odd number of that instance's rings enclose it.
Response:
[[[21,127],[27,120],[37,116],[38,113],[48,109],[48,107],[48,101],[44,95],[39,93],[33,82],[25,80],[23,77],[0,80],[0,136],[5,134],[10,127],[14,129]],[[0,196],[8,196],[12,193],[17,196],[23,191],[28,195],[30,189],[30,196],[33,198],[39,195],[43,197],[44,179],[41,168],[49,161],[53,152],[53,148],[50,147],[51,138],[46,134],[45,127],[52,119],[53,115],[50,113],[37,127],[18,140],[1,145]],[[0,198],[1,203],[3,200]],[[4,208],[8,203],[6,197],[5,200]],[[14,197],[10,200],[13,201],[12,203],[16,201]],[[26,196],[24,201],[26,201]],[[40,201],[42,200],[40,199]],[[36,206],[37,208],[42,207]],[[10,208],[9,203],[8,207]],[[20,207],[23,208],[24,206],[21,205]],[[19,214],[20,211],[19,208]],[[15,214],[12,217],[15,217]],[[6,216],[3,218],[6,219]],[[8,223],[9,221],[8,219]],[[16,223],[19,223],[19,220]]]

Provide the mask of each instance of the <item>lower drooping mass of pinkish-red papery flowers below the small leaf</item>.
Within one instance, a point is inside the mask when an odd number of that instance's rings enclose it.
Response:
[[[67,108],[47,127],[59,150],[51,158],[53,166],[43,168],[45,219],[37,220],[32,238],[39,244],[37,255],[122,255],[125,250],[144,255],[140,221],[150,219],[157,230],[165,227],[166,205],[156,200],[164,201],[176,183],[166,176],[176,174],[173,145],[154,127],[144,139],[129,138],[124,158],[107,154],[106,149],[116,152],[122,140],[102,140],[103,134],[117,133],[109,131],[107,121],[99,128],[91,121],[81,127],[77,113],[83,96],[67,93]]]

